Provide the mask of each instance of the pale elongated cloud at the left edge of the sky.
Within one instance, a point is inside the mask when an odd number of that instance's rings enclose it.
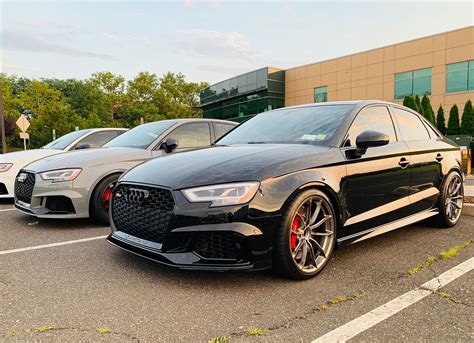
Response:
[[[51,40],[41,37],[41,35],[26,30],[6,29],[1,32],[2,49],[22,50],[43,53],[55,53],[71,57],[95,58],[105,61],[113,61],[116,58],[112,55],[97,53],[92,51],[71,48],[62,44],[57,44]]]

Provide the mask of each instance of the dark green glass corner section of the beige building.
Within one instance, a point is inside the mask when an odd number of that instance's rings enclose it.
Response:
[[[243,121],[285,106],[285,71],[262,68],[201,91],[201,117]]]

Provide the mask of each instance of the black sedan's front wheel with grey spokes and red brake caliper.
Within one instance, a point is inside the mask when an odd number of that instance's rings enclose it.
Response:
[[[287,206],[275,234],[273,271],[306,280],[326,266],[336,242],[336,212],[317,189],[298,194]]]

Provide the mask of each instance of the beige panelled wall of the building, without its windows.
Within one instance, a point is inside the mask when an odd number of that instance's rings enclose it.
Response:
[[[447,65],[472,60],[473,26],[291,68],[285,75],[285,106],[315,102],[314,93],[318,87],[327,87],[327,101],[381,99],[401,102],[403,99],[395,98],[395,76],[431,68],[432,106],[436,110],[442,104],[449,110],[457,104],[462,110],[467,99],[474,101],[474,87],[447,91]],[[474,63],[472,66],[474,69]]]

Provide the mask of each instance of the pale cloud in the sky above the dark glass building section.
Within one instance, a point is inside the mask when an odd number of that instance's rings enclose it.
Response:
[[[203,29],[178,31],[175,51],[184,55],[240,59],[252,65],[260,65],[262,57],[247,39],[237,32],[220,32]]]

